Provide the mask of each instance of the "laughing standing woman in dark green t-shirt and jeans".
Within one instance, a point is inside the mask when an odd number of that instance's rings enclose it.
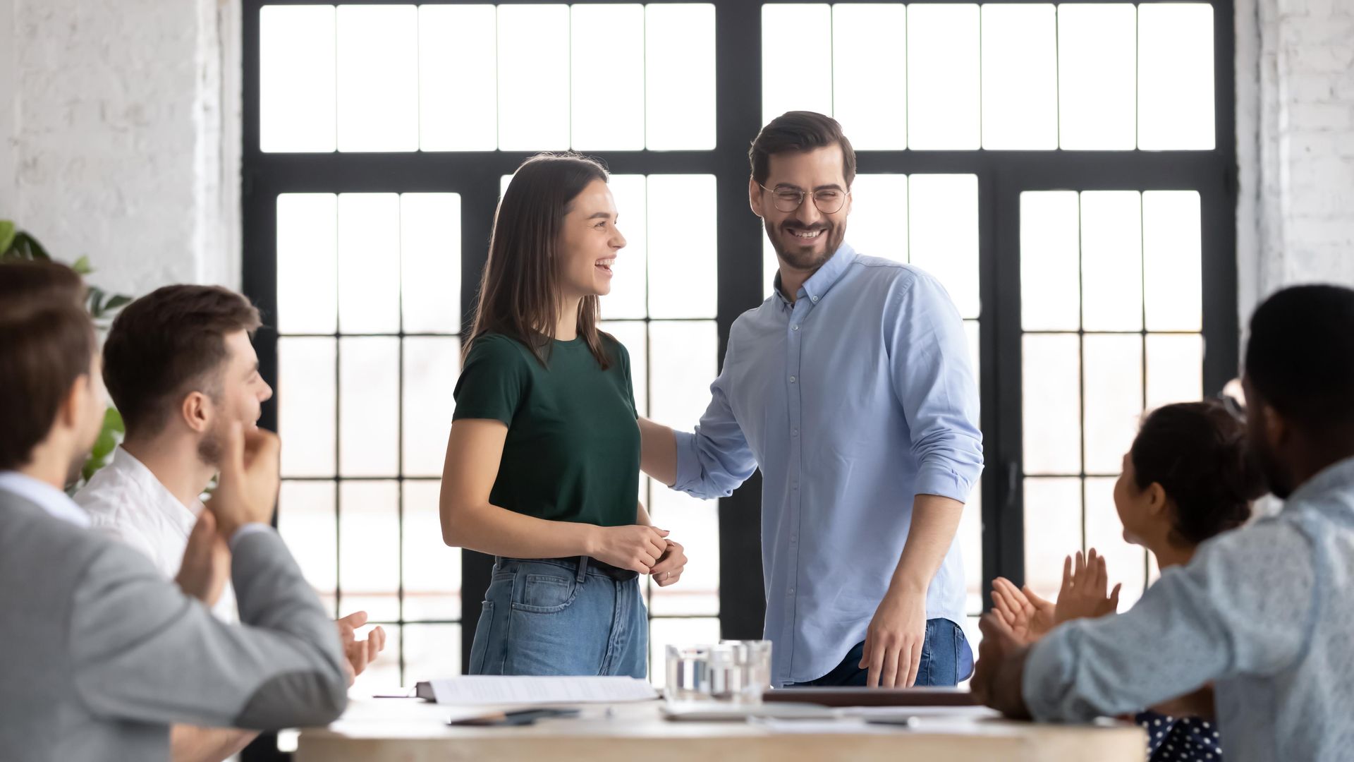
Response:
[[[630,355],[597,329],[624,245],[578,155],[528,159],[498,205],[440,500],[447,545],[496,556],[471,674],[643,678],[638,578],[686,563],[636,500]]]

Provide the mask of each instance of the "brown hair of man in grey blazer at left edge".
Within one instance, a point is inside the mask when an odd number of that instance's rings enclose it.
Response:
[[[89,373],[84,283],[64,264],[0,264],[0,470],[28,464],[72,385]]]

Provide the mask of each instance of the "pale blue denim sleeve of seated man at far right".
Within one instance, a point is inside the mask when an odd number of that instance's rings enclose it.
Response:
[[[1240,674],[1273,675],[1305,648],[1316,606],[1311,544],[1292,526],[1223,534],[1166,569],[1124,614],[1053,629],[1025,663],[1036,720],[1085,721]]]

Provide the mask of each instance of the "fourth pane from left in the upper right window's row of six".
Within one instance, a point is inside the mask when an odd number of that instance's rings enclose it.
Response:
[[[1057,148],[1052,4],[983,5],[983,148]]]

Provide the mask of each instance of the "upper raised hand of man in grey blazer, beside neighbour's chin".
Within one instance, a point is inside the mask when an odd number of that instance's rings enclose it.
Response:
[[[271,523],[278,504],[278,435],[263,428],[248,433],[238,423],[226,428],[221,481],[207,502],[217,529],[227,541],[246,523]]]

